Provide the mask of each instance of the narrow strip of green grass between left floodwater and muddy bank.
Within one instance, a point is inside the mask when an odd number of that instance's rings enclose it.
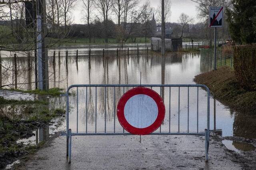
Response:
[[[52,88],[49,90],[21,90],[21,89],[4,89],[8,91],[18,91],[22,93],[30,93],[30,94],[37,94],[37,95],[51,95],[51,96],[60,96],[61,94],[64,94],[62,91],[63,89],[60,88]]]

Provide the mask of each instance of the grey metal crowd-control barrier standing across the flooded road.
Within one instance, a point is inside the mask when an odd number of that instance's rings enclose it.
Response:
[[[68,156],[68,162],[71,163],[71,142],[72,142],[72,136],[77,136],[77,135],[130,135],[128,132],[116,132],[116,88],[121,88],[123,87],[123,93],[125,92],[125,87],[126,88],[134,88],[134,87],[149,87],[152,89],[152,87],[160,87],[160,95],[161,91],[163,88],[169,87],[169,132],[161,132],[161,126],[160,126],[160,132],[153,132],[150,135],[200,135],[200,136],[205,136],[205,161],[208,161],[208,149],[209,149],[209,141],[210,141],[210,90],[206,85],[71,85],[68,87],[66,94],[66,149],[67,149],[67,156]],[[86,123],[86,131],[85,133],[79,133],[78,132],[78,88],[79,87],[85,87],[86,88],[86,94],[85,94],[85,106],[86,106],[86,111],[85,111],[85,123]],[[95,117],[97,117],[97,88],[101,87],[104,88],[104,119],[105,119],[105,127],[104,127],[104,132],[97,132],[97,119],[95,119],[95,131],[94,132],[88,132],[87,130],[87,119],[88,119],[88,87],[89,88],[95,88]],[[106,131],[106,88],[112,87],[114,89],[114,125],[113,125],[113,132],[107,132]],[[170,99],[171,99],[171,88],[172,87],[178,87],[178,132],[171,132],[171,125],[170,125]],[[188,88],[188,128],[187,132],[180,132],[180,87],[187,87]],[[190,87],[196,87],[197,88],[197,132],[189,132],[189,89]],[[207,127],[204,130],[204,132],[198,132],[198,91],[199,87],[204,88],[207,92]],[[72,130],[69,128],[69,94],[70,94],[70,89],[76,88],[76,99],[77,99],[77,104],[76,104],[76,133],[72,133]]]

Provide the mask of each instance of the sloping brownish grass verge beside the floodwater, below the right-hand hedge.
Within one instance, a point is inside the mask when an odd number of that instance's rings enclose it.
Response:
[[[197,75],[194,81],[208,86],[214,98],[231,109],[256,115],[256,91],[246,91],[240,87],[230,67]]]

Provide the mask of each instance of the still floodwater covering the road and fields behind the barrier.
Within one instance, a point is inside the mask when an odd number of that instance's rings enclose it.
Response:
[[[65,51],[69,56],[66,62]],[[76,61],[75,49],[56,49],[55,63],[53,63],[53,51],[49,50],[49,86],[67,89],[74,84],[195,84],[194,76],[204,73],[209,69],[202,65],[200,53],[168,53],[164,64],[161,63],[161,56],[156,53],[146,55],[146,47],[140,48],[139,57],[137,50],[131,49],[129,57],[127,50],[105,49],[104,58],[102,49],[95,49],[88,57],[88,49],[80,50]],[[58,56],[60,51],[60,56]],[[12,58],[2,58],[2,62],[11,68]],[[28,69],[30,62],[31,69]],[[18,57],[18,87],[22,89],[34,88],[34,68],[32,59],[28,57]],[[6,67],[7,67],[6,66]],[[13,73],[4,73],[3,84],[14,82]],[[141,75],[141,77],[140,77]],[[106,121],[106,132],[123,132],[123,128],[118,123],[115,106],[120,97],[131,88],[116,87],[105,89],[98,87],[97,96],[94,87],[71,89],[70,95],[70,128],[72,132],[104,132]],[[162,132],[178,131],[178,88],[153,87],[153,90],[161,93],[166,107],[166,116],[161,126]],[[170,94],[170,95],[169,95]],[[189,101],[188,101],[189,96]],[[96,104],[97,98],[97,104]],[[78,100],[77,100],[78,99]],[[114,99],[116,101],[114,102]],[[65,98],[57,97],[51,99],[55,107],[65,105]],[[169,105],[170,103],[170,105]],[[206,91],[199,89],[198,95],[198,131],[203,132],[206,128]],[[189,107],[189,108],[188,108]],[[96,115],[97,108],[97,115]],[[105,109],[106,108],[106,109]],[[214,109],[215,108],[215,109]],[[106,112],[105,112],[106,110]],[[87,113],[87,114],[86,114]],[[106,115],[105,115],[106,114]],[[77,117],[78,115],[78,117]],[[77,119],[78,118],[78,119]],[[188,125],[189,119],[189,125]],[[170,121],[169,121],[170,120]],[[223,136],[240,136],[246,138],[256,138],[254,131],[256,126],[255,116],[246,116],[236,113],[228,107],[222,105],[217,100],[210,99],[210,129],[222,130]],[[78,126],[77,126],[78,123]],[[65,130],[66,122],[58,127],[58,130]],[[197,131],[197,88],[180,88],[180,132]],[[160,129],[156,130],[159,132]],[[47,134],[51,134],[47,131]],[[43,132],[42,131],[42,132]],[[39,132],[38,132],[39,134]],[[31,138],[31,140],[34,140]]]

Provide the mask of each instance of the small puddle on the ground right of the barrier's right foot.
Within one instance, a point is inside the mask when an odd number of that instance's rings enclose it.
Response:
[[[252,144],[237,142],[233,140],[222,140],[222,143],[226,146],[228,150],[233,150],[235,152],[247,152],[255,150],[255,147]]]

